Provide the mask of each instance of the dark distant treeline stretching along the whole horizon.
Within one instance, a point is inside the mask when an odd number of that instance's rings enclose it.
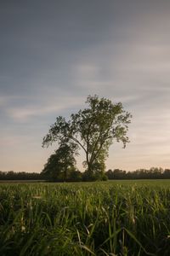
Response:
[[[0,180],[47,180],[47,181],[56,181],[56,182],[81,182],[101,179],[101,175],[94,175],[89,178],[88,172],[71,172],[67,177],[54,176],[48,177],[43,173],[37,172],[2,172],[0,171]],[[170,178],[170,169],[163,170],[162,168],[152,167],[149,170],[139,169],[133,172],[127,172],[120,169],[108,170],[103,175],[103,180],[114,180],[114,179],[166,179]]]

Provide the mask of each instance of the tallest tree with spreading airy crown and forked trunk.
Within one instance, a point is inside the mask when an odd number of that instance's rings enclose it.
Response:
[[[85,152],[84,166],[88,172],[95,172],[96,166],[105,168],[105,159],[114,140],[128,143],[127,129],[131,114],[126,112],[122,103],[99,96],[88,96],[88,108],[71,114],[71,119],[57,117],[54,125],[43,138],[42,145],[51,143],[75,143]],[[103,166],[103,167],[102,167]]]

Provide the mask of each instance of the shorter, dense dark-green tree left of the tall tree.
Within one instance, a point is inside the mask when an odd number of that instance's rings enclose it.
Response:
[[[71,172],[76,171],[76,160],[74,158],[76,150],[76,144],[61,144],[55,153],[48,158],[48,162],[42,170],[42,176],[59,181],[69,179]]]

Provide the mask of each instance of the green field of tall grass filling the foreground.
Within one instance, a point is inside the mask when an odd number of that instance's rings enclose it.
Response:
[[[1,183],[0,255],[170,255],[170,181]]]

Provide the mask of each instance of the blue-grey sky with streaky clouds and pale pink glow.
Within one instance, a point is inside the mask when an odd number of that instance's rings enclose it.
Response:
[[[169,168],[169,31],[167,0],[0,1],[0,170],[41,172],[49,126],[95,94],[133,114],[106,168]]]

